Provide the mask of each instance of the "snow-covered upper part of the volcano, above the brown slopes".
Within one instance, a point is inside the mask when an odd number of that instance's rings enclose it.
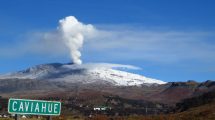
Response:
[[[139,69],[131,65],[88,63],[76,64],[43,64],[23,71],[0,75],[0,79],[34,79],[63,81],[81,84],[111,84],[116,86],[165,84],[165,82],[129,73],[121,69]]]

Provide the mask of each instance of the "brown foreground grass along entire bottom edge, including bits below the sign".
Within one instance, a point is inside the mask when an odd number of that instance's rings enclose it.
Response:
[[[155,115],[155,116],[124,116],[124,117],[108,117],[105,115],[97,115],[92,118],[84,118],[83,116],[59,116],[53,117],[52,120],[215,120],[215,103],[206,104],[200,107],[191,108],[185,112]],[[0,118],[0,120],[14,120],[11,118]],[[45,118],[36,119],[19,119],[19,120],[46,120]]]

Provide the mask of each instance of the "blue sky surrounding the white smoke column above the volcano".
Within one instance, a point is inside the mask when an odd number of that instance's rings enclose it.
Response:
[[[133,72],[163,81],[214,80],[214,4],[212,0],[1,0],[0,73],[69,62],[58,49],[29,51],[29,41],[41,41],[38,34],[54,31],[60,19],[75,16],[108,33],[84,43],[84,63],[131,64],[142,68]]]

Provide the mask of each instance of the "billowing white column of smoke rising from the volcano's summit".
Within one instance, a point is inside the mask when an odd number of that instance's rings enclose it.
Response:
[[[74,16],[68,16],[59,21],[58,30],[61,38],[70,50],[70,57],[74,64],[82,64],[81,51],[84,39],[95,31],[90,24],[79,22]]]

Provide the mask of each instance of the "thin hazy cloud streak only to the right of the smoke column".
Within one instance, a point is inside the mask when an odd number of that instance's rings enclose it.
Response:
[[[114,28],[113,28],[114,29]],[[113,30],[114,31],[114,30]],[[146,60],[175,63],[185,60],[215,60],[211,32],[119,30],[85,44],[87,54],[101,54],[105,59]]]

